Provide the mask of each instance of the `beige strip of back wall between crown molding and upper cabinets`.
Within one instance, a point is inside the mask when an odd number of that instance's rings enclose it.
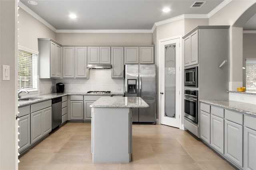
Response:
[[[152,45],[152,33],[56,33],[62,45]]]

